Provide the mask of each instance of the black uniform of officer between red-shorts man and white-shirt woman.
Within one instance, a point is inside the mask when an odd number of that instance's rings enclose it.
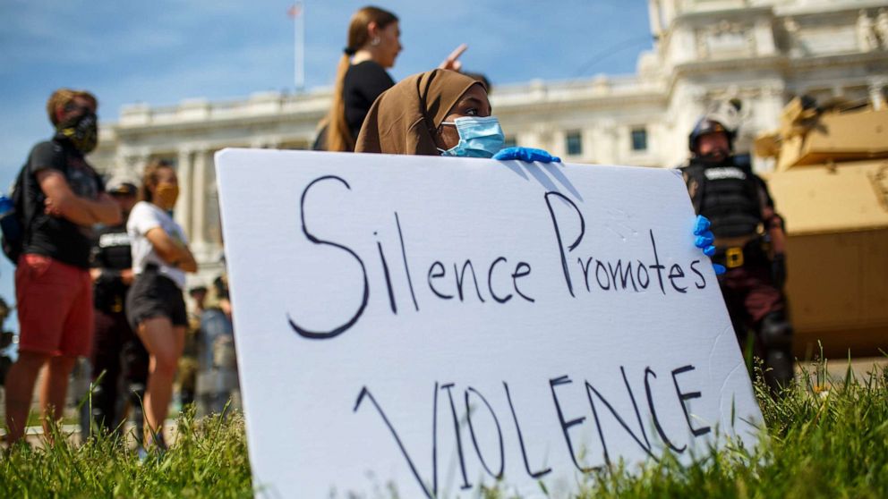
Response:
[[[92,248],[94,268],[101,275],[93,283],[96,331],[92,345],[92,378],[104,376],[92,393],[90,415],[98,427],[114,429],[123,420],[125,400],[118,393],[130,393],[130,402],[141,423],[141,397],[148,376],[148,352],[126,320],[124,303],[129,289],[120,272],[132,267],[130,238],[126,224],[98,232]],[[82,421],[88,424],[90,419]],[[87,428],[84,428],[86,430]],[[88,435],[84,432],[84,435]],[[137,432],[141,435],[141,432]]]

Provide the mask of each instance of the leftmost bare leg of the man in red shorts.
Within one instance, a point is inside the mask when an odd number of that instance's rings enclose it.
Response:
[[[19,359],[6,373],[6,442],[18,442],[25,433],[30,401],[40,368],[49,359],[45,353],[20,351]]]

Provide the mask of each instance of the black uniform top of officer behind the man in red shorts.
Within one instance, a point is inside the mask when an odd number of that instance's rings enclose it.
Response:
[[[93,301],[96,309],[120,312],[129,289],[120,280],[120,271],[132,267],[126,223],[105,227],[98,231],[97,236],[92,246],[92,266],[102,269],[102,275],[93,285]]]

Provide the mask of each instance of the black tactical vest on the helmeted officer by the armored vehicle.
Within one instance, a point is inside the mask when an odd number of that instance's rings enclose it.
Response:
[[[712,221],[715,237],[756,233],[762,223],[762,205],[748,162],[735,161],[734,157],[721,165],[691,160],[683,170],[697,182],[691,201],[698,214]]]

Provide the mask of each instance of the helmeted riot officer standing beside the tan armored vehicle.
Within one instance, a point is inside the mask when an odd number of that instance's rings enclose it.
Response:
[[[740,348],[764,359],[765,381],[777,392],[793,376],[783,220],[749,156],[733,154],[733,140],[734,131],[704,116],[688,137],[692,156],[682,172],[696,213],[713,223],[713,263],[727,267],[719,284]]]

